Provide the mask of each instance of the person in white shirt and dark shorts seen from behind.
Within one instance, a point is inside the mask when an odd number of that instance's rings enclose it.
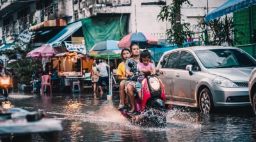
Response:
[[[97,65],[97,71],[99,72],[99,81],[97,85],[99,86],[100,97],[102,97],[102,94],[103,94],[103,91],[102,91],[102,86],[104,86],[103,83],[105,83],[106,86],[108,86],[109,84],[107,68],[109,68],[109,66],[106,63],[104,63],[104,61],[99,60],[99,65]]]

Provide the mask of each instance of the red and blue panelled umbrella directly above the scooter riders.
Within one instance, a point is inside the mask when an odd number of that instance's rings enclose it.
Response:
[[[156,45],[158,43],[157,38],[147,33],[130,33],[124,36],[118,43],[119,48],[130,47],[132,44],[143,45]]]

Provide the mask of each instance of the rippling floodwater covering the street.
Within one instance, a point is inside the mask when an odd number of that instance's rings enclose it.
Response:
[[[0,99],[2,102],[3,98]],[[255,141],[256,118],[250,107],[218,109],[200,114],[198,109],[173,107],[164,127],[132,125],[117,110],[118,93],[109,102],[92,94],[32,95],[12,93],[14,107],[44,110],[62,120],[60,141]],[[10,104],[8,104],[10,105]],[[44,141],[39,136],[33,141]]]

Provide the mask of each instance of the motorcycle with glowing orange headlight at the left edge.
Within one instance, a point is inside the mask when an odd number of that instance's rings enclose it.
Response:
[[[6,74],[4,72],[1,73],[0,76],[0,88],[1,93],[4,95],[4,97],[8,97],[11,89],[12,89],[12,78],[11,75]]]

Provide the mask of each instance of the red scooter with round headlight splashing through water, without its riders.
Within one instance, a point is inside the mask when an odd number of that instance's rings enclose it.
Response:
[[[159,75],[159,74],[158,74]],[[135,97],[135,111],[138,113],[130,114],[127,111],[121,113],[131,120],[132,123],[140,125],[163,126],[166,123],[165,111],[165,93],[164,86],[157,75],[135,75],[141,81],[141,100],[138,95]],[[128,106],[128,104],[125,104]]]

